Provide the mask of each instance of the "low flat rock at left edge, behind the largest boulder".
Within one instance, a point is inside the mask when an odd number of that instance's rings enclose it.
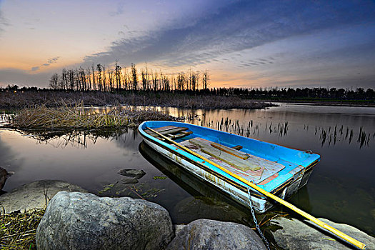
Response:
[[[17,210],[24,212],[30,209],[43,209],[59,191],[86,192],[80,186],[65,181],[34,181],[1,195],[0,207],[4,207],[6,214]],[[1,208],[0,214],[2,212],[3,209]]]

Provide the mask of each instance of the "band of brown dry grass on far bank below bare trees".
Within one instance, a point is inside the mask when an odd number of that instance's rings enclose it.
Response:
[[[0,108],[19,109],[34,105],[73,106],[81,101],[88,106],[171,106],[182,109],[264,109],[274,106],[264,101],[249,101],[239,96],[189,95],[171,92],[131,92],[121,94],[100,91],[21,91],[0,92]]]

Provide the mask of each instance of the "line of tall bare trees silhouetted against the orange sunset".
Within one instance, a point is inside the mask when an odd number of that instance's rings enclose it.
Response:
[[[149,70],[147,64],[140,71],[136,64],[124,69],[118,64],[106,68],[102,64],[92,64],[86,69],[62,69],[61,74],[55,73],[49,79],[51,89],[75,91],[196,91],[208,89],[208,71],[179,72],[164,74],[161,70]]]

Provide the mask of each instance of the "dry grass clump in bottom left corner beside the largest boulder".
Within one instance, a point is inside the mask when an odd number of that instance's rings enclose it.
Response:
[[[0,221],[0,249],[36,249],[36,228],[45,209],[25,213],[2,214]]]

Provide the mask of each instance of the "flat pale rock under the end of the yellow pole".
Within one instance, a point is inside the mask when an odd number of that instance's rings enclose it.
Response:
[[[346,224],[334,223],[328,219],[321,218],[320,220],[366,244],[366,249],[375,249],[374,237],[363,231]],[[331,232],[321,229],[310,221],[277,217],[271,220],[271,224],[276,224],[283,228],[272,233],[276,244],[283,249],[356,249],[354,246],[346,244],[345,241],[339,240],[338,236],[334,236]]]

